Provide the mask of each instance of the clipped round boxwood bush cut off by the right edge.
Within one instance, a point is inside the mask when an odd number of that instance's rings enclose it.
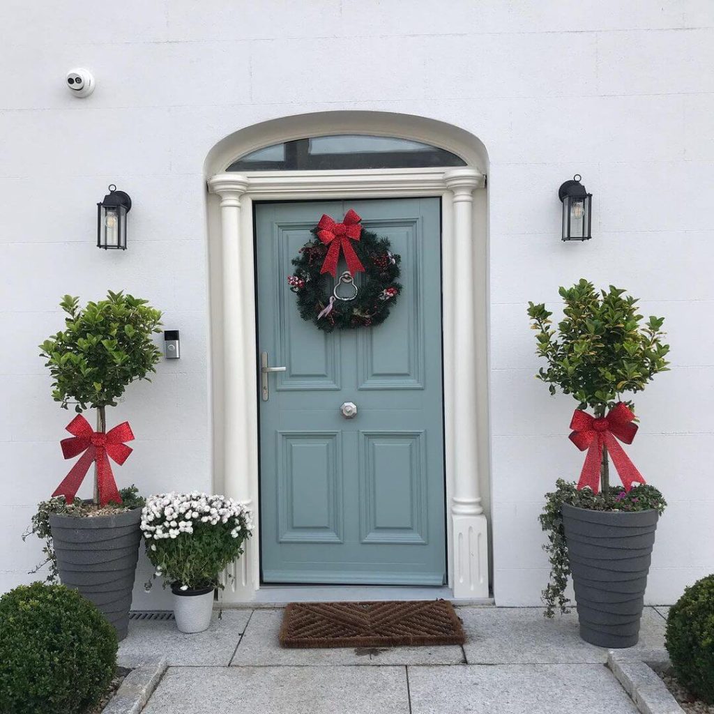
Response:
[[[713,704],[714,575],[686,588],[670,609],[665,644],[680,684]]]

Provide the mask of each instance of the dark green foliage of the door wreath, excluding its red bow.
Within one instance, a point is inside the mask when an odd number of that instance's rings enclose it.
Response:
[[[399,283],[401,257],[390,252],[388,239],[378,238],[363,228],[359,241],[351,241],[365,268],[364,273],[356,273],[354,276],[358,287],[357,297],[349,301],[336,300],[331,313],[318,320],[318,315],[329,304],[336,280],[329,273],[320,273],[328,246],[317,237],[317,229],[313,229],[312,233],[315,236],[313,240],[306,243],[300,249],[300,255],[292,261],[295,266],[294,277],[303,283],[300,287],[291,288],[298,296],[301,318],[326,332],[335,328],[368,327],[383,323],[402,289]],[[393,296],[383,299],[383,291],[389,288],[393,288]]]

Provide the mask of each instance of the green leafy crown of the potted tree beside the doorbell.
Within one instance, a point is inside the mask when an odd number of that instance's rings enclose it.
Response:
[[[161,332],[161,312],[146,300],[109,291],[106,300],[84,308],[69,295],[60,306],[64,331],[39,347],[54,380],[52,398],[63,408],[116,406],[131,382],[156,372],[161,351],[151,336]]]

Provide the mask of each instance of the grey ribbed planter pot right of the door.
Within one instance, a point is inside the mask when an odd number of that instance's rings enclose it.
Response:
[[[655,543],[657,511],[588,511],[563,503],[563,528],[580,637],[600,647],[633,647]]]

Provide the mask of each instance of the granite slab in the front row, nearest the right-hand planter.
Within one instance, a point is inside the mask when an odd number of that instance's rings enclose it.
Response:
[[[637,713],[599,664],[409,667],[408,676],[411,714]]]

